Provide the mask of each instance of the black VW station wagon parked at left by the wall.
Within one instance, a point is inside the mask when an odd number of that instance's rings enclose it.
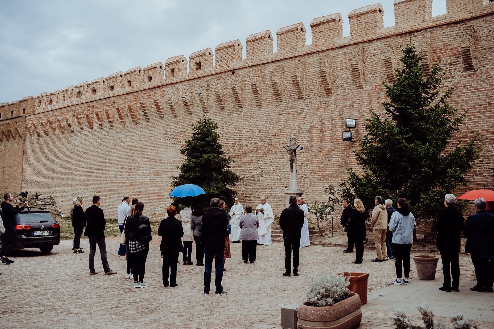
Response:
[[[0,209],[1,216],[1,209]],[[24,209],[15,216],[17,243],[14,250],[39,248],[41,253],[51,252],[60,243],[60,224],[48,210],[42,208]],[[0,235],[0,255],[7,247],[3,234]]]

